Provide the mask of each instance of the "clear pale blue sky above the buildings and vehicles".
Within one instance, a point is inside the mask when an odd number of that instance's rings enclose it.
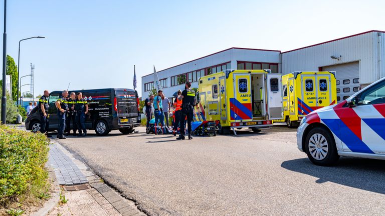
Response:
[[[20,39],[46,36],[21,45],[20,74],[35,64],[35,95],[70,81],[70,89],[132,88],[134,64],[140,94],[153,64],[161,70],[233,46],[285,51],[385,30],[384,8],[380,0],[8,0],[7,53],[17,63]]]

